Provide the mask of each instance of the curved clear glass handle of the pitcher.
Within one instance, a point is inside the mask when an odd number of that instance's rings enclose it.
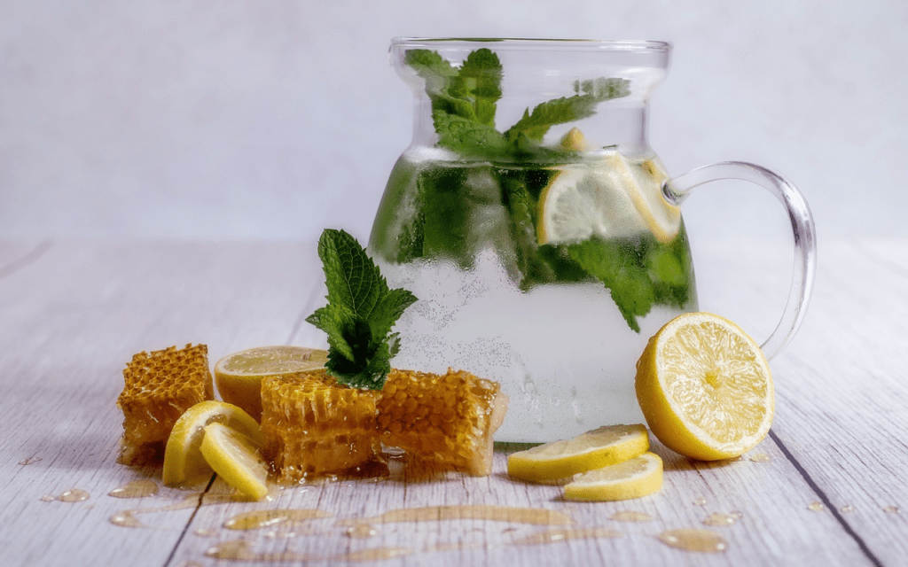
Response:
[[[816,271],[816,231],[814,217],[810,212],[804,195],[790,181],[785,180],[773,171],[744,161],[723,161],[688,171],[674,179],[666,181],[662,187],[663,195],[668,202],[680,205],[695,187],[709,181],[741,180],[750,181],[775,195],[782,201],[791,221],[792,234],[795,237],[795,268],[792,274],[792,285],[788,290],[788,299],[782,319],[773,333],[760,348],[766,358],[775,357],[787,345],[797,332],[807,304],[814,289]]]

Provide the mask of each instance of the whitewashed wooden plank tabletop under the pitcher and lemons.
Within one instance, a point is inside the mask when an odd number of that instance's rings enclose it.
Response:
[[[788,285],[786,249],[701,244],[695,249],[701,308],[765,336]],[[382,565],[905,564],[908,242],[821,241],[819,259],[804,327],[772,361],[777,402],[770,435],[743,458],[715,464],[656,444],[666,464],[659,494],[567,503],[557,486],[508,480],[509,448],[499,447],[489,477],[328,483],[277,491],[265,503],[209,498],[200,506],[194,497],[183,509],[139,516],[148,527],[128,528],[109,518],[192,494],[161,487],[141,500],[108,495],[136,479],[160,484],[160,469],[114,463],[123,366],[135,352],[190,342],[207,344],[212,360],[253,346],[321,345],[319,331],[303,321],[322,302],[314,243],[0,243],[0,564],[233,564],[205,553],[237,539],[250,552],[271,553],[260,560],[316,564],[368,560],[368,553],[356,553],[376,548],[407,550],[378,560]],[[50,498],[74,488],[90,498]],[[515,544],[550,526],[375,523],[374,535],[354,537],[342,525],[448,504],[544,508],[568,514],[577,528],[617,533]],[[237,513],[269,508],[317,508],[331,517],[292,529],[221,527]],[[653,519],[611,519],[623,510]],[[740,513],[734,524],[709,528],[725,539],[725,552],[686,552],[656,539],[666,530],[705,528],[710,514],[732,512]]]

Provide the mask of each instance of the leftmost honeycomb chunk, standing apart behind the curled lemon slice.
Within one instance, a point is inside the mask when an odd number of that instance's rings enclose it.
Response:
[[[123,410],[123,440],[117,463],[153,464],[176,420],[190,407],[214,399],[208,347],[186,345],[140,352],[123,369],[125,386],[116,404]]]

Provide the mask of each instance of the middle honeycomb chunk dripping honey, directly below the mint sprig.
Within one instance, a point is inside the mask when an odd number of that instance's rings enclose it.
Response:
[[[380,463],[377,395],[339,385],[324,369],[264,378],[263,453],[278,481],[300,483]]]

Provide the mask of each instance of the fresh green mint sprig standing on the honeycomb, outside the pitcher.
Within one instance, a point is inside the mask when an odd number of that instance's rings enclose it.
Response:
[[[343,230],[322,231],[319,258],[328,305],[306,321],[328,334],[328,374],[341,384],[380,390],[399,348],[391,327],[417,298],[390,289],[366,250]]]

